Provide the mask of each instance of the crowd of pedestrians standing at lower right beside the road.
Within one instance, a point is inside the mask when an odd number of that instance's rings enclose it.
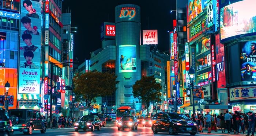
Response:
[[[231,133],[240,134],[244,133],[247,130],[247,135],[254,136],[255,124],[256,124],[256,114],[252,112],[240,113],[235,111],[234,113],[229,113],[226,110],[226,113],[221,113],[218,116],[216,114],[192,114],[191,117],[189,114],[185,116],[191,118],[195,123],[197,123],[198,132],[203,132],[203,127],[205,130],[208,130],[207,133],[211,131],[216,131],[217,128],[222,131],[222,133]]]

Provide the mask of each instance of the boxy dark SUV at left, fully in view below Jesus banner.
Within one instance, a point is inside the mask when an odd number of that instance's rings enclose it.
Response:
[[[39,110],[35,109],[9,109],[8,113],[12,121],[12,129],[31,135],[33,131],[46,132],[47,123]]]

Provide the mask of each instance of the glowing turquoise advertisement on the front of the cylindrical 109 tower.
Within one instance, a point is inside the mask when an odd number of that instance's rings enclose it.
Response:
[[[136,72],[136,45],[119,46],[119,72]]]

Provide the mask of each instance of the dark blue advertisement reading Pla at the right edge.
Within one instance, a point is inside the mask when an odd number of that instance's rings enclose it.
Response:
[[[240,43],[242,81],[256,80],[256,40]]]

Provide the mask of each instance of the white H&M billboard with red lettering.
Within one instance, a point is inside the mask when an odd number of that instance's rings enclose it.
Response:
[[[143,30],[143,44],[158,44],[157,30]]]

